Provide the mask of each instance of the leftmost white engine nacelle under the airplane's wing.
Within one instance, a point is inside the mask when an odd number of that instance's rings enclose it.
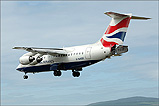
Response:
[[[34,60],[35,60],[35,58],[33,56],[22,56],[19,58],[19,62],[22,65],[27,65],[27,64],[33,62]]]

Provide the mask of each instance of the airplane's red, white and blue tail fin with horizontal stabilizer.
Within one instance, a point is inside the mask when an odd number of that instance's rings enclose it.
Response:
[[[123,44],[130,19],[150,19],[132,16],[132,14],[120,14],[115,12],[106,12],[105,14],[112,17],[112,20],[100,40],[104,47],[113,47],[114,45]]]

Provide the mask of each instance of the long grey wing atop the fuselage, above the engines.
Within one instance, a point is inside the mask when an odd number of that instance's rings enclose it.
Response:
[[[59,49],[59,48],[13,47],[13,49],[26,50],[28,52],[39,53],[39,54],[42,54],[42,55],[46,55],[46,54],[50,54],[50,55],[67,54],[66,50]]]

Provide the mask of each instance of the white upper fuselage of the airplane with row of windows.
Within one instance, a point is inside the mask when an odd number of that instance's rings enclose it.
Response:
[[[110,54],[110,48],[104,47],[101,42],[97,42],[89,45],[73,46],[62,48],[67,51],[67,54],[57,54],[57,55],[43,55],[42,61],[38,64],[19,64],[17,69],[33,66],[41,66],[55,63],[75,63],[81,61],[101,61],[105,59]],[[26,55],[26,54],[24,54]],[[91,65],[91,63],[90,63]],[[46,70],[50,71],[50,70]]]

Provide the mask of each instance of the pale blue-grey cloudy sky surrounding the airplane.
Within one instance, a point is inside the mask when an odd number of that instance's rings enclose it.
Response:
[[[131,96],[158,96],[157,1],[2,1],[1,103],[3,105],[85,105]],[[71,71],[15,70],[25,51],[14,46],[68,47],[98,41],[111,18],[106,11],[132,13],[151,20],[131,20],[125,45],[129,52],[86,67],[80,78]]]

